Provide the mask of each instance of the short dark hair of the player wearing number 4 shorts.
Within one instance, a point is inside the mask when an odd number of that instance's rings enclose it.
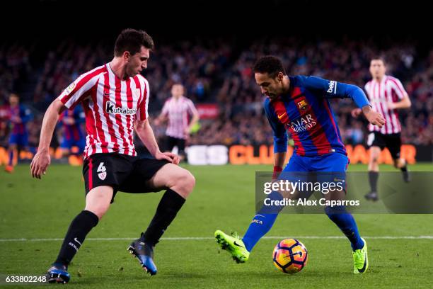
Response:
[[[149,50],[155,48],[154,40],[149,34],[143,30],[131,28],[122,30],[115,42],[115,57],[122,56],[125,51],[129,52],[131,55],[135,55],[140,52],[142,46]]]

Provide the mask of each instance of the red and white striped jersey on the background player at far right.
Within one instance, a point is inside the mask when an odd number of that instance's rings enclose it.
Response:
[[[383,135],[401,132],[398,112],[395,109],[388,109],[388,103],[397,102],[407,94],[400,80],[389,75],[383,76],[381,82],[371,79],[365,84],[365,91],[369,96],[371,106],[386,120],[382,128],[369,124],[369,130],[381,132]]]

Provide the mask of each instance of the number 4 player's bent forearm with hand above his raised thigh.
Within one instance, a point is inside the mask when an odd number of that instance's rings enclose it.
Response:
[[[149,149],[149,152],[155,159],[166,159],[168,162],[173,164],[179,164],[179,157],[171,152],[161,152],[156,142],[154,130],[149,125],[149,121],[146,120],[135,120],[134,121],[135,132],[142,140],[143,144]]]

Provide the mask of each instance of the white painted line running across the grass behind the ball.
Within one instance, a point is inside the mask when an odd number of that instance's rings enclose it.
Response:
[[[433,239],[433,236],[363,236],[364,239]],[[286,239],[286,238],[296,238],[296,239],[346,239],[345,236],[265,236],[262,239]],[[134,240],[136,237],[129,238],[87,238],[86,241],[124,241],[124,240]],[[213,240],[214,237],[163,237],[161,240],[166,241],[190,241],[190,240]],[[0,239],[0,242],[49,242],[49,241],[63,241],[61,238],[40,238],[40,239]]]

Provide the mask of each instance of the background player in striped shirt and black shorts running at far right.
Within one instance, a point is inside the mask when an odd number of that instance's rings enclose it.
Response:
[[[403,172],[403,179],[408,182],[408,164],[400,157],[401,125],[398,120],[398,110],[410,108],[410,98],[401,82],[395,77],[386,75],[386,62],[383,57],[374,57],[370,62],[371,79],[365,85],[365,91],[374,110],[379,111],[386,119],[385,125],[379,128],[369,124],[367,145],[370,147],[369,182],[371,191],[365,195],[367,200],[378,200],[377,181],[379,179],[379,155],[381,150],[388,148],[393,157],[394,166]],[[352,115],[357,117],[361,111],[356,108]]]

